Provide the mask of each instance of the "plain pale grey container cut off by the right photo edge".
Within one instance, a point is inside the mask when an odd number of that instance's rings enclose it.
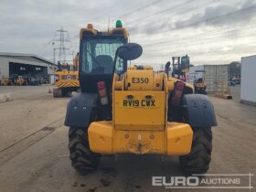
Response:
[[[240,101],[256,104],[256,55],[241,58]]]

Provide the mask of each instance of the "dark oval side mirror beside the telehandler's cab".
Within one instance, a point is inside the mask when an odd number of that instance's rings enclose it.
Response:
[[[143,54],[143,48],[136,43],[128,43],[117,48],[116,55],[123,60],[138,59]]]

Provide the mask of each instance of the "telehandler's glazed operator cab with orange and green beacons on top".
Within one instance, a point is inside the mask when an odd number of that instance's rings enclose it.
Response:
[[[109,92],[113,73],[122,73],[127,68],[127,61],[118,58],[114,66],[115,52],[128,41],[128,32],[117,21],[116,27],[100,32],[92,27],[80,30],[80,88],[82,92],[97,93],[98,82],[103,81]]]

